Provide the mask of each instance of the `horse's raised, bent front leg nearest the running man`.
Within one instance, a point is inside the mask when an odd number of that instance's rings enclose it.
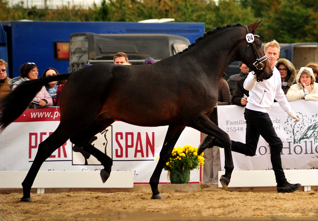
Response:
[[[193,119],[193,118],[192,118]],[[221,184],[226,190],[231,180],[232,171],[234,169],[231,139],[227,133],[214,124],[206,115],[202,115],[196,121],[189,123],[187,126],[197,129],[198,131],[219,139],[224,147],[225,155],[225,174],[220,177]]]

